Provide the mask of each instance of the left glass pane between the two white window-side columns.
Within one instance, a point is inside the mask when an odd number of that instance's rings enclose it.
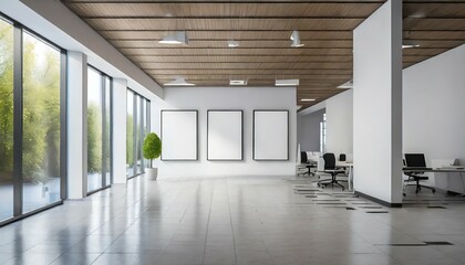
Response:
[[[87,192],[102,188],[102,75],[87,71]]]

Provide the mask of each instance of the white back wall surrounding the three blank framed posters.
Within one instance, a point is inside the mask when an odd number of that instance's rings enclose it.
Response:
[[[296,173],[294,87],[165,88],[165,102],[152,104],[152,128],[159,134],[161,109],[198,109],[198,161],[161,161],[159,177],[290,176]],[[244,110],[244,161],[207,161],[207,109]],[[252,110],[289,110],[289,161],[252,160]],[[163,140],[163,139],[162,139]]]

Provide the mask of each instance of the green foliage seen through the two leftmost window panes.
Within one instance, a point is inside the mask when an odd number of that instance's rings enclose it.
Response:
[[[24,182],[60,177],[60,52],[24,34],[23,43]],[[0,181],[13,169],[13,34],[0,21]]]

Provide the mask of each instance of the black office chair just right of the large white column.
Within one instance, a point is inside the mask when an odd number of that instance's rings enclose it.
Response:
[[[427,176],[422,176],[425,172],[421,171],[422,168],[426,168],[426,160],[425,160],[425,156],[423,153],[405,153],[405,160],[404,162],[404,167],[406,166],[406,168],[415,168],[418,171],[411,171],[411,172],[404,172],[409,179],[406,180],[407,184],[404,186],[404,190],[409,184],[409,182],[414,181],[415,182],[415,193],[418,193],[422,188],[425,189],[431,189],[431,191],[434,193],[436,192],[436,189],[434,189],[433,187],[428,187],[428,186],[423,186],[420,183],[420,181],[422,180],[428,180],[430,178]],[[405,195],[405,192],[404,192]]]

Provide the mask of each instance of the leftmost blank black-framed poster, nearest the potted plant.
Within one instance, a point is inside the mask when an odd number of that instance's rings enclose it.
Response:
[[[197,160],[197,110],[162,110],[162,160]]]

